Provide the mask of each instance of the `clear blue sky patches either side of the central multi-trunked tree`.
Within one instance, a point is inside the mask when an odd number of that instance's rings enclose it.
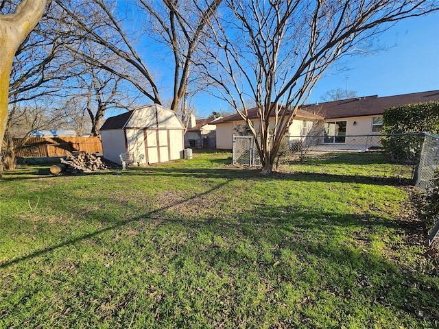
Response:
[[[383,97],[439,89],[439,12],[400,21],[383,32],[379,41],[390,49],[370,56],[344,58],[350,70],[327,72],[313,89],[308,103],[320,101],[328,90],[346,88],[346,81],[348,90],[356,90],[359,96]],[[207,117],[212,111],[230,111],[225,101],[208,95],[197,95],[194,103],[197,117]]]

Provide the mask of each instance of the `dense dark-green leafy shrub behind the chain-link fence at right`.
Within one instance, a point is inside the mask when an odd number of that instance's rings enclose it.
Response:
[[[382,132],[439,134],[439,101],[388,108],[383,112]],[[422,144],[423,138],[420,136],[389,136],[382,141],[383,147],[394,160],[417,160]]]

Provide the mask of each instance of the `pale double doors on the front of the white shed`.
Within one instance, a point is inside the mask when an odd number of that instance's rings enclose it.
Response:
[[[145,153],[147,163],[169,161],[169,134],[165,129],[145,130]]]

